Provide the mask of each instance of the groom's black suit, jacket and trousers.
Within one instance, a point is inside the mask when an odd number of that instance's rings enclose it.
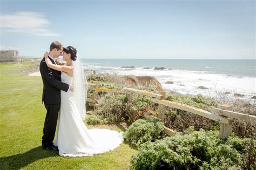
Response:
[[[50,57],[49,59],[55,64]],[[44,58],[40,63],[40,72],[44,84],[42,102],[47,110],[44,121],[42,146],[49,147],[52,145],[56,131],[60,108],[60,90],[67,92],[69,90],[69,85],[60,81],[61,72],[50,69],[46,65]]]

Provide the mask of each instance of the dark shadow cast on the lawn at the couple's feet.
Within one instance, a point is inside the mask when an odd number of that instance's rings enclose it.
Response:
[[[0,169],[20,169],[37,160],[58,156],[58,152],[49,152],[38,146],[25,153],[0,158]]]

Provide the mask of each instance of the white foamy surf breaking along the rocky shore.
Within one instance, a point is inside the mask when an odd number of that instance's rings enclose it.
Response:
[[[86,67],[89,69],[89,67]],[[231,97],[234,93],[244,94],[246,99],[256,96],[256,78],[230,76],[225,74],[214,74],[206,71],[187,71],[187,70],[154,70],[120,68],[120,67],[101,67],[100,72],[117,73],[121,75],[133,74],[135,76],[154,76],[165,90],[174,90],[182,94],[203,94],[205,96],[215,96],[216,91],[228,91]],[[173,81],[173,84],[165,84],[166,81]],[[204,86],[208,89],[198,89]]]

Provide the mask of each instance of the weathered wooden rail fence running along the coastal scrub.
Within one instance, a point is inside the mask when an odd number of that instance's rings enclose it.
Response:
[[[144,96],[149,96],[152,98],[153,103],[158,104],[158,118],[154,117],[152,115],[144,115],[145,118],[154,118],[158,119],[160,121],[164,122],[165,118],[165,108],[166,107],[172,107],[177,108],[179,110],[191,112],[200,116],[203,116],[205,118],[218,121],[220,124],[220,131],[219,131],[219,138],[220,139],[226,139],[230,136],[231,130],[232,130],[232,119],[239,119],[243,121],[247,121],[252,123],[254,126],[256,125],[256,117],[253,115],[238,113],[238,112],[232,112],[230,105],[220,105],[220,108],[212,108],[211,112],[205,111],[200,108],[196,108],[193,106],[188,106],[185,104],[176,103],[173,101],[165,100],[165,91],[160,91],[160,94],[147,92],[144,90],[138,90],[138,89],[132,89],[131,85],[128,87],[125,87],[122,90],[116,90],[116,89],[104,89],[99,88],[97,85],[97,82],[95,83],[89,83],[89,89],[92,90],[92,98],[87,98],[87,102],[90,106],[97,107],[98,106],[98,92],[110,92],[110,93],[119,93],[119,94],[127,94],[128,100],[132,100],[132,96],[134,93],[136,94],[142,94]],[[175,135],[176,132],[171,130],[170,128],[164,127],[165,133],[168,135]]]

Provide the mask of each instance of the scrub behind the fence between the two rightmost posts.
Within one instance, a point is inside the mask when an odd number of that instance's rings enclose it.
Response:
[[[211,111],[212,107],[217,107],[217,101],[213,98],[203,97],[201,94],[197,96],[186,96],[182,94],[167,96],[167,100],[181,104],[190,105]],[[204,130],[218,130],[219,123],[217,121],[201,117],[200,115],[190,112],[178,110],[176,108],[168,108],[165,110],[165,125],[173,130],[184,132],[186,128],[194,126],[196,130],[203,128]]]

